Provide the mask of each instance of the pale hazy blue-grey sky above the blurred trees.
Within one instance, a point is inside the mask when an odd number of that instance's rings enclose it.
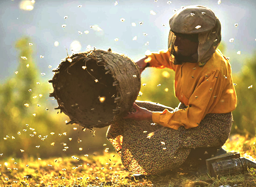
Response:
[[[15,42],[21,37],[30,37],[37,67],[45,73],[45,79],[51,79],[53,73],[48,66],[58,66],[67,56],[65,48],[68,54],[72,54],[71,49],[79,52],[93,47],[111,48],[134,61],[145,52],[166,49],[168,21],[175,10],[188,5],[209,7],[221,21],[223,54],[230,57],[233,73],[239,72],[246,58],[253,56],[255,0],[155,1],[0,0],[0,83],[17,71],[20,57]],[[229,42],[231,38],[233,42]]]

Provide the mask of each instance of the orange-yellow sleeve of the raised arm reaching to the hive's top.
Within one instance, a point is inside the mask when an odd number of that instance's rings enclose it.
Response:
[[[157,68],[170,68],[175,71],[175,66],[170,61],[170,52],[168,50],[159,51],[157,53],[152,53],[150,55],[146,55],[148,59],[146,61],[149,63],[149,66],[151,67],[157,67]]]

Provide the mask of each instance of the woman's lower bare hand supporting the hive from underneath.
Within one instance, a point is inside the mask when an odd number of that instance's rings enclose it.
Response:
[[[136,103],[133,103],[133,108],[136,109],[136,112],[128,112],[128,115],[123,117],[124,119],[133,119],[133,120],[152,120],[152,112],[146,108],[141,108]]]

